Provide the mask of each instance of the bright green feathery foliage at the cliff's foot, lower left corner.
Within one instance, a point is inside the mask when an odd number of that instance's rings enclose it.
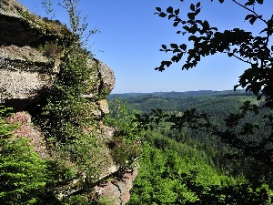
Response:
[[[55,191],[67,185],[76,170],[62,160],[41,159],[29,138],[15,138],[13,131],[20,125],[6,121],[10,115],[10,109],[1,108],[1,204],[61,204]]]

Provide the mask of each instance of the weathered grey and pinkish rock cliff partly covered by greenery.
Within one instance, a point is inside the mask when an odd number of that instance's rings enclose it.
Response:
[[[0,27],[0,105],[15,108],[15,115],[8,118],[10,122],[21,123],[15,136],[30,138],[41,158],[52,158],[44,133],[33,126],[31,115],[35,107],[45,100],[59,75],[63,51],[58,44],[66,42],[69,46],[73,35],[66,26],[29,13],[15,0],[0,1]],[[94,195],[95,200],[97,196],[103,196],[112,204],[125,204],[136,171],[120,173],[120,167],[111,156],[112,150],[106,145],[113,138],[114,129],[100,122],[108,113],[106,97],[115,86],[115,76],[109,67],[92,56],[88,65],[96,67],[95,72],[90,73],[90,78],[96,83],[82,97],[86,97],[93,106],[91,116],[99,125],[96,138],[105,139],[97,153],[97,159],[101,155],[105,160],[90,195]],[[56,190],[56,195],[62,198],[78,190],[81,187],[76,181],[71,181],[69,188]]]

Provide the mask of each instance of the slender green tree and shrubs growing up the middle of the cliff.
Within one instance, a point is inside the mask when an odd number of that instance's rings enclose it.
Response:
[[[96,30],[87,31],[86,16],[80,14],[79,0],[61,2],[59,5],[69,16],[71,34],[67,37],[69,42],[61,45],[60,71],[38,120],[48,148],[53,149],[60,160],[69,161],[67,164],[71,163],[76,168],[77,191],[65,196],[64,200],[73,200],[74,196],[87,200],[86,192],[90,191],[105,165],[104,157],[97,154],[103,147],[102,142],[90,129],[98,126],[91,117],[95,106],[83,97],[96,85],[96,77],[92,77],[96,73],[96,64],[89,64],[92,56],[86,49],[88,37]],[[50,0],[44,3],[52,5]],[[48,8],[48,11],[51,10]]]

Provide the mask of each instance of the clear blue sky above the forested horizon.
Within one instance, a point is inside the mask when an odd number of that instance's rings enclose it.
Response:
[[[67,23],[64,9],[57,6],[59,0],[52,0],[56,19]],[[238,0],[239,2],[246,2]],[[37,15],[46,16],[42,0],[19,0]],[[227,90],[233,89],[248,65],[224,55],[206,57],[197,67],[181,70],[181,64],[173,64],[166,71],[158,72],[162,60],[169,56],[160,52],[162,44],[187,43],[185,36],[177,35],[172,21],[154,15],[156,7],[167,8],[172,5],[187,15],[189,3],[195,0],[81,0],[82,15],[87,15],[90,29],[97,28],[100,33],[89,41],[96,58],[111,67],[116,76],[116,87],[112,93],[190,91],[190,90]],[[262,15],[272,15],[272,0],[257,9]],[[199,16],[207,19],[211,26],[220,31],[240,27],[253,30],[244,21],[247,14],[231,0],[219,4],[217,0],[201,1]],[[47,15],[48,16],[48,15]],[[50,16],[49,16],[50,17]]]

